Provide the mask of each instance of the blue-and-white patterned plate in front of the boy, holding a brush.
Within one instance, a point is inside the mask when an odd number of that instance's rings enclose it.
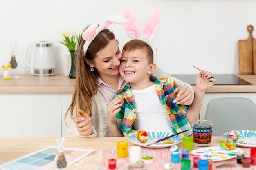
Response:
[[[174,133],[168,133],[168,132],[148,132],[148,140],[145,143],[140,142],[137,139],[137,135],[132,135],[129,137],[129,141],[132,142],[133,144],[137,145],[137,146],[142,146],[145,148],[167,148],[167,147],[171,147],[173,145],[176,145],[180,142],[182,142],[182,137],[180,135],[176,135],[173,136],[169,139],[166,139],[164,141],[160,141],[156,144],[153,145],[149,145],[147,146],[147,144],[151,144],[154,141],[157,141],[159,139],[168,137],[173,135]]]

